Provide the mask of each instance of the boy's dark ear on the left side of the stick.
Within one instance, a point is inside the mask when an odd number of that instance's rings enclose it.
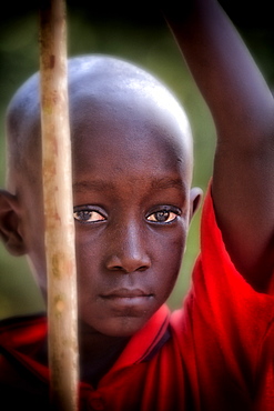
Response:
[[[0,238],[12,255],[22,255],[27,252],[20,234],[20,222],[17,197],[0,190]]]

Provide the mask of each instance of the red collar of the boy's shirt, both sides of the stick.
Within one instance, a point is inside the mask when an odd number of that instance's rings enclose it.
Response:
[[[130,339],[124,351],[102,381],[122,368],[151,359],[170,337],[169,319],[170,310],[164,304]],[[42,342],[45,338],[47,318],[44,315],[32,315],[21,319],[20,322],[18,320],[3,321],[0,327],[0,353],[8,361],[17,364],[16,367],[26,369],[26,372],[32,372],[41,380],[48,381],[49,369],[28,355],[29,350],[24,350],[26,347]]]

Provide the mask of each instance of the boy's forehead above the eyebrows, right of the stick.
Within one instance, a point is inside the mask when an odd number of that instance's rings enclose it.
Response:
[[[74,172],[149,176],[191,172],[190,130],[184,117],[141,93],[84,96],[73,101],[72,156]]]

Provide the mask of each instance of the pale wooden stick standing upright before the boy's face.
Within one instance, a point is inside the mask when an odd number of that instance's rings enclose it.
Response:
[[[77,410],[78,332],[64,0],[40,8],[42,169],[53,408]]]

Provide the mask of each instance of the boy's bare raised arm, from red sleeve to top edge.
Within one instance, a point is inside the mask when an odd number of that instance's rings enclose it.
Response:
[[[217,1],[169,8],[166,21],[216,128],[212,196],[219,225],[236,268],[267,291],[274,268],[272,93]]]

